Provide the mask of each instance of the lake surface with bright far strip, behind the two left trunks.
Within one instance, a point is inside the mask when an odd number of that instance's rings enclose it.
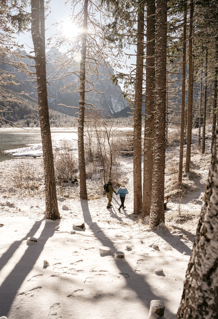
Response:
[[[51,132],[52,140],[73,139],[76,130],[72,131],[53,131]],[[40,131],[25,130],[0,130],[0,161],[15,158],[2,151],[25,147],[27,144],[41,143]]]

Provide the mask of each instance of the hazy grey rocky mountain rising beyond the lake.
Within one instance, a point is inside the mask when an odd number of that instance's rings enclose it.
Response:
[[[27,54],[25,51],[22,51],[22,54],[24,58],[22,58],[21,61],[28,64],[29,69],[34,72],[35,69],[32,67],[32,65],[34,65],[34,60],[25,57]],[[59,71],[57,70],[57,65],[54,63],[57,56],[61,56],[61,53],[57,49],[51,49],[46,54],[47,79],[49,82],[47,85],[47,92],[48,95],[53,96],[48,96],[48,107],[67,115],[74,116],[78,111],[77,109],[58,106],[58,104],[62,103],[68,106],[78,107],[77,101],[79,100],[79,93],[74,92],[75,87],[72,88],[70,85],[76,79],[76,76],[71,74],[67,77],[58,79]],[[79,65],[74,66],[76,69],[78,67]],[[72,68],[73,66],[67,71],[72,71]],[[13,67],[3,63],[1,63],[1,69],[12,72],[14,71]],[[57,71],[56,76],[52,77],[52,74],[55,71]],[[109,76],[106,74],[109,72],[104,72],[105,74],[103,74],[103,72],[104,70],[100,70],[101,80],[96,85],[98,91],[103,93],[100,95],[96,93],[88,94],[87,98],[90,100],[89,103],[93,104],[97,108],[104,109],[105,113],[114,114],[120,112],[128,107],[128,103],[123,98],[120,86],[111,83]],[[25,91],[26,93],[29,93],[30,100],[32,100],[31,98],[37,99],[36,83],[32,83],[32,81],[30,81],[22,72],[16,73],[16,78],[22,82],[19,82],[18,86],[13,86],[13,91],[17,93]],[[94,76],[91,78],[93,80]],[[63,87],[66,87],[66,90],[63,90]]]

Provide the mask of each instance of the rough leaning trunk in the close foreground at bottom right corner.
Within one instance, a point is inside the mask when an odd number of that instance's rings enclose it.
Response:
[[[177,319],[218,316],[218,128]]]

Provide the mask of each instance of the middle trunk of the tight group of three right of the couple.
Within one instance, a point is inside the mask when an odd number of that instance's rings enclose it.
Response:
[[[147,1],[146,100],[142,218],[150,215],[155,108],[155,1]],[[152,57],[151,57],[152,56]]]

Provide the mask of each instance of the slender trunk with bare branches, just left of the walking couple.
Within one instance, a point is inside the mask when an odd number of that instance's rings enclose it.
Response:
[[[80,60],[80,78],[79,78],[79,115],[78,115],[78,156],[79,156],[79,175],[80,175],[80,198],[87,199],[86,173],[85,173],[85,155],[84,155],[84,111],[85,111],[85,59],[86,59],[86,39],[87,39],[87,19],[88,2],[84,1],[84,20],[82,49]]]

